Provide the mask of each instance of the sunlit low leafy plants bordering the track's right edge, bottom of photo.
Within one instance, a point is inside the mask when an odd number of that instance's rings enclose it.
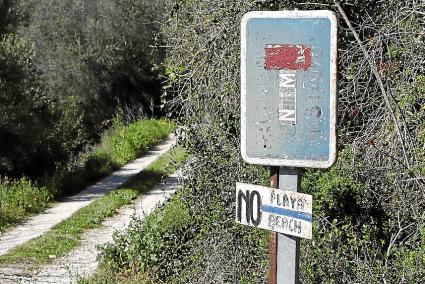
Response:
[[[192,216],[181,191],[156,208],[145,220],[133,220],[126,231],[114,236],[114,244],[102,248],[97,272],[80,284],[162,283],[160,280],[183,265],[193,234]],[[182,237],[185,236],[185,237]]]

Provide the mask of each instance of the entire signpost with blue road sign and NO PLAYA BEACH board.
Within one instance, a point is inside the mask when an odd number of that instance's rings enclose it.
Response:
[[[270,283],[298,283],[299,238],[312,238],[312,197],[297,168],[336,161],[336,17],[249,12],[241,21],[241,154],[278,166],[271,187],[236,184],[238,223],[268,229]],[[272,171],[277,167],[272,167]]]

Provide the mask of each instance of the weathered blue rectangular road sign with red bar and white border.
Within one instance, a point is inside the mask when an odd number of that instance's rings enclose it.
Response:
[[[249,12],[241,23],[241,151],[248,163],[336,160],[336,31],[330,11]]]

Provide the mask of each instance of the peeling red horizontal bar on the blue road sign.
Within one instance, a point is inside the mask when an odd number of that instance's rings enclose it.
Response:
[[[267,70],[307,70],[311,66],[311,47],[308,45],[275,44],[265,47],[264,68]]]

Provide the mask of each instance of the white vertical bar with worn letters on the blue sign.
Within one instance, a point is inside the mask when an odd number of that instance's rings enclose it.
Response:
[[[296,124],[297,82],[295,71],[279,70],[279,121]]]

